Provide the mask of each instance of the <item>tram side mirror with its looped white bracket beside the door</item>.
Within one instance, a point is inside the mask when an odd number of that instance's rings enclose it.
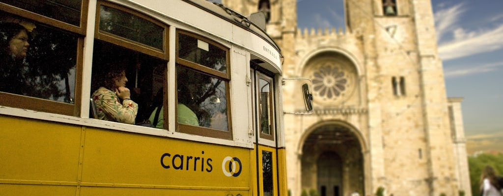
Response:
[[[312,81],[308,78],[283,79],[283,112],[285,114],[312,114]]]

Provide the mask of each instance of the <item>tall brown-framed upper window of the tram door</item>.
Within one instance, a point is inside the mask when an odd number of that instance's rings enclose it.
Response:
[[[272,78],[258,74],[258,104],[260,137],[273,140],[273,89]]]

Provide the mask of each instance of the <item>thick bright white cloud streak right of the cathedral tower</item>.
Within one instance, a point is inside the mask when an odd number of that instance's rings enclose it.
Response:
[[[503,24],[494,29],[466,33],[456,29],[454,40],[439,46],[443,60],[457,59],[470,55],[491,52],[503,48]]]

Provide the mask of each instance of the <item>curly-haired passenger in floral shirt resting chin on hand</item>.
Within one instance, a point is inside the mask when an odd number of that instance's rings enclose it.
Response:
[[[125,69],[118,64],[107,65],[105,69],[103,78],[99,78],[100,88],[92,95],[98,119],[134,124],[138,104],[131,100],[131,92],[126,88]]]

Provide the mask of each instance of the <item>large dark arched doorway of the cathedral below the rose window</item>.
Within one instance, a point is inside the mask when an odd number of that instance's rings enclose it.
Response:
[[[342,124],[313,130],[302,147],[302,191],[319,196],[364,195],[362,147],[355,133]]]

